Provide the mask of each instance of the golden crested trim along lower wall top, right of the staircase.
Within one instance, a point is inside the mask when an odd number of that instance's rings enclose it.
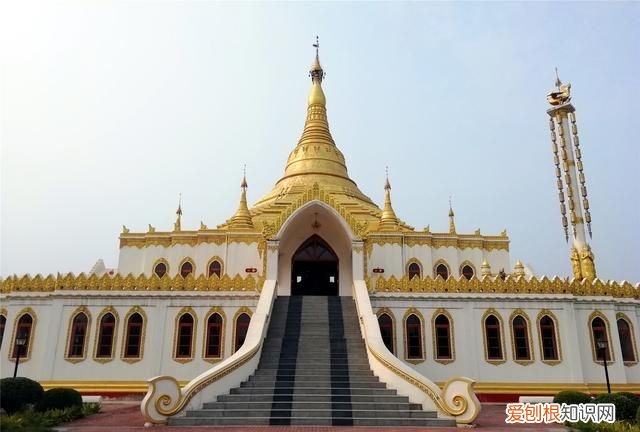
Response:
[[[388,278],[379,276],[366,278],[370,292],[419,292],[419,293],[477,293],[477,294],[564,294],[573,296],[615,297],[640,299],[640,285],[634,287],[628,282],[603,283],[599,279],[567,280],[555,277],[541,279],[513,277],[507,275],[503,280],[499,277],[485,276],[482,279],[472,278],[467,280],[449,276],[449,279],[433,279],[427,276],[424,279],[414,278],[409,280],[406,276]]]

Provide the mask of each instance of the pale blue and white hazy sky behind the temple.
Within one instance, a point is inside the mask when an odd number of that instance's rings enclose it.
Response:
[[[640,3],[0,6],[0,273],[117,264],[122,224],[235,211],[281,176],[313,43],[351,177],[433,231],[504,228],[512,260],[570,272],[546,93],[572,83],[599,275],[640,280]]]

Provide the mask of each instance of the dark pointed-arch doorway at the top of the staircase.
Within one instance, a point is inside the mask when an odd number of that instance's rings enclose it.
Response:
[[[291,295],[338,295],[338,255],[318,235],[293,254]]]

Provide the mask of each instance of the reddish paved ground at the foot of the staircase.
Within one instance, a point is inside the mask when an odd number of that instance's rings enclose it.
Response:
[[[537,432],[561,432],[567,429],[560,425],[507,425],[505,405],[503,404],[482,404],[482,413],[478,417],[478,427],[476,430],[483,432],[502,431],[537,431]],[[453,432],[460,430],[457,428],[384,428],[384,427],[331,427],[331,426],[251,426],[251,427],[168,427],[155,426],[145,428],[144,419],[140,413],[140,402],[134,401],[107,401],[102,405],[102,412],[88,418],[77,420],[56,428],[59,431],[68,432],[129,432],[129,431],[155,431],[155,432],[200,432],[203,430],[220,432],[347,432],[357,430],[357,432],[418,432],[429,430],[429,432]]]

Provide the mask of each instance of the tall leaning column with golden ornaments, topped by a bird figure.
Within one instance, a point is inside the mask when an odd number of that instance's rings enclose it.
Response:
[[[595,279],[594,256],[585,234],[586,225],[589,239],[591,239],[591,213],[589,213],[589,200],[578,139],[576,109],[571,104],[571,84],[563,84],[557,76],[557,70],[556,88],[547,95],[547,101],[552,105],[552,108],[547,110],[547,114],[549,114],[553,162],[556,166],[562,226],[565,240],[568,242],[569,222],[571,222],[573,235],[570,257],[573,276],[579,280]],[[567,220],[567,206],[569,220]]]

